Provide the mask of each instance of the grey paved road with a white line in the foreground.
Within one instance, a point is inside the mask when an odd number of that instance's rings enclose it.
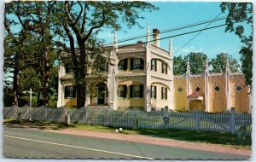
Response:
[[[79,159],[248,159],[247,156],[3,127],[3,156]]]

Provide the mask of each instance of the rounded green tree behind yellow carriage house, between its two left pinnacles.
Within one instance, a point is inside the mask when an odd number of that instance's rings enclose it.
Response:
[[[205,72],[205,66],[207,61],[207,55],[201,52],[195,53],[190,52],[189,55],[184,57],[184,62],[186,62],[186,66],[184,69],[187,68],[187,62],[189,59],[189,66],[190,66],[190,73],[194,75],[202,74]]]

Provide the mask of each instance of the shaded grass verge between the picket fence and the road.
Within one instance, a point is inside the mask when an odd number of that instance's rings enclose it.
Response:
[[[95,130],[104,132],[114,132],[113,127],[105,127],[99,125],[90,124],[55,124],[49,122],[19,122],[12,119],[4,119],[4,124],[23,124],[29,127],[38,127],[40,129],[79,129],[79,130]],[[205,142],[214,143],[219,145],[228,145],[233,148],[245,148],[251,149],[252,138],[251,136],[246,136],[245,140],[238,140],[237,135],[233,135],[228,132],[209,132],[209,131],[196,131],[196,130],[154,130],[154,129],[123,129],[121,133],[126,135],[144,135],[144,136],[154,136],[160,138],[175,139],[180,141],[188,142]]]

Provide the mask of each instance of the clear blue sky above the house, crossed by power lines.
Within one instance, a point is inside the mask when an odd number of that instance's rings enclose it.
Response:
[[[151,13],[143,13],[144,20],[139,20],[139,23],[144,27],[140,29],[137,26],[127,29],[124,26],[124,31],[117,32],[118,40],[124,38],[131,38],[134,36],[141,36],[147,33],[147,25],[149,22],[150,32],[153,28],[158,28],[160,31],[171,29],[177,26],[189,25],[202,20],[214,19],[221,10],[218,2],[215,3],[175,3],[175,2],[157,2],[153,3],[159,7],[159,10]],[[225,16],[226,14],[220,14],[219,17]],[[212,22],[211,26],[218,26],[224,24],[224,20],[218,22]],[[207,24],[201,26],[191,27],[186,30],[180,30],[177,32],[167,32],[160,35],[161,38],[173,36],[183,32],[194,31],[203,29]],[[188,55],[189,52],[203,52],[209,56],[209,58],[215,57],[221,52],[226,52],[236,58],[237,61],[240,59],[239,50],[241,49],[242,43],[240,39],[235,35],[234,32],[224,32],[225,26],[214,28],[201,32],[195,39],[192,40],[188,45],[174,55]],[[189,39],[193,38],[195,33],[184,35],[177,38],[172,38],[173,52],[177,51],[183,44],[187,43]],[[101,38],[105,38],[107,43],[113,41],[113,33],[106,31],[100,35]],[[138,40],[145,41],[146,38],[140,38]],[[132,40],[126,43],[136,43],[137,40]],[[160,47],[163,49],[169,49],[169,39],[161,40]]]

